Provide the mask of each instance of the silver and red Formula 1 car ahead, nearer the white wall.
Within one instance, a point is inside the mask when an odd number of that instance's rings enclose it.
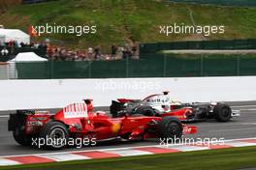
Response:
[[[174,116],[181,122],[206,121],[216,119],[218,122],[228,122],[233,117],[239,117],[240,111],[234,111],[223,102],[193,102],[182,103],[171,99],[169,92],[155,94],[145,99],[112,100],[111,114],[119,117],[123,114],[166,117]]]

